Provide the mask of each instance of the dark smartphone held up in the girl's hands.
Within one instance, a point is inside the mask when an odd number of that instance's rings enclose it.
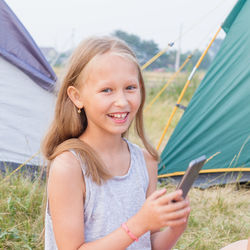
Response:
[[[206,156],[203,155],[189,163],[188,169],[179,182],[177,189],[182,189],[182,197],[185,199],[189,189],[192,187],[195,179],[198,177],[199,172],[206,161]]]

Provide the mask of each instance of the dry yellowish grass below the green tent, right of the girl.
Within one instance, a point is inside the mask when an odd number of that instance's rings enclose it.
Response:
[[[188,228],[176,249],[217,250],[250,236],[250,190],[236,185],[192,189]]]

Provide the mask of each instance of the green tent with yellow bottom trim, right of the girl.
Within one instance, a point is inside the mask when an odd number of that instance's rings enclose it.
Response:
[[[250,180],[250,0],[239,0],[226,37],[161,154],[160,178],[180,178],[189,162],[210,157],[196,185]]]

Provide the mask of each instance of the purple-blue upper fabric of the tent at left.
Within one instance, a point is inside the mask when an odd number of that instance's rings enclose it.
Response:
[[[40,49],[8,5],[0,0],[0,56],[42,88],[53,91],[56,75]]]

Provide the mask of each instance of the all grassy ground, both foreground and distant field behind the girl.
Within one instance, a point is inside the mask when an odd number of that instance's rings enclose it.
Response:
[[[204,74],[193,79],[182,101],[187,105]],[[169,73],[146,72],[147,104],[170,77]],[[154,146],[187,79],[180,75],[151,109],[145,112],[145,127]],[[147,105],[146,104],[146,105]],[[183,111],[178,110],[160,150],[166,144]],[[133,131],[129,138],[140,144]],[[7,173],[8,175],[8,173]],[[174,186],[168,185],[170,192]],[[0,249],[43,249],[43,221],[46,186],[38,173],[31,181],[21,173],[4,180],[0,175]],[[191,214],[188,228],[175,249],[216,250],[250,236],[249,186],[237,184],[190,192]]]

